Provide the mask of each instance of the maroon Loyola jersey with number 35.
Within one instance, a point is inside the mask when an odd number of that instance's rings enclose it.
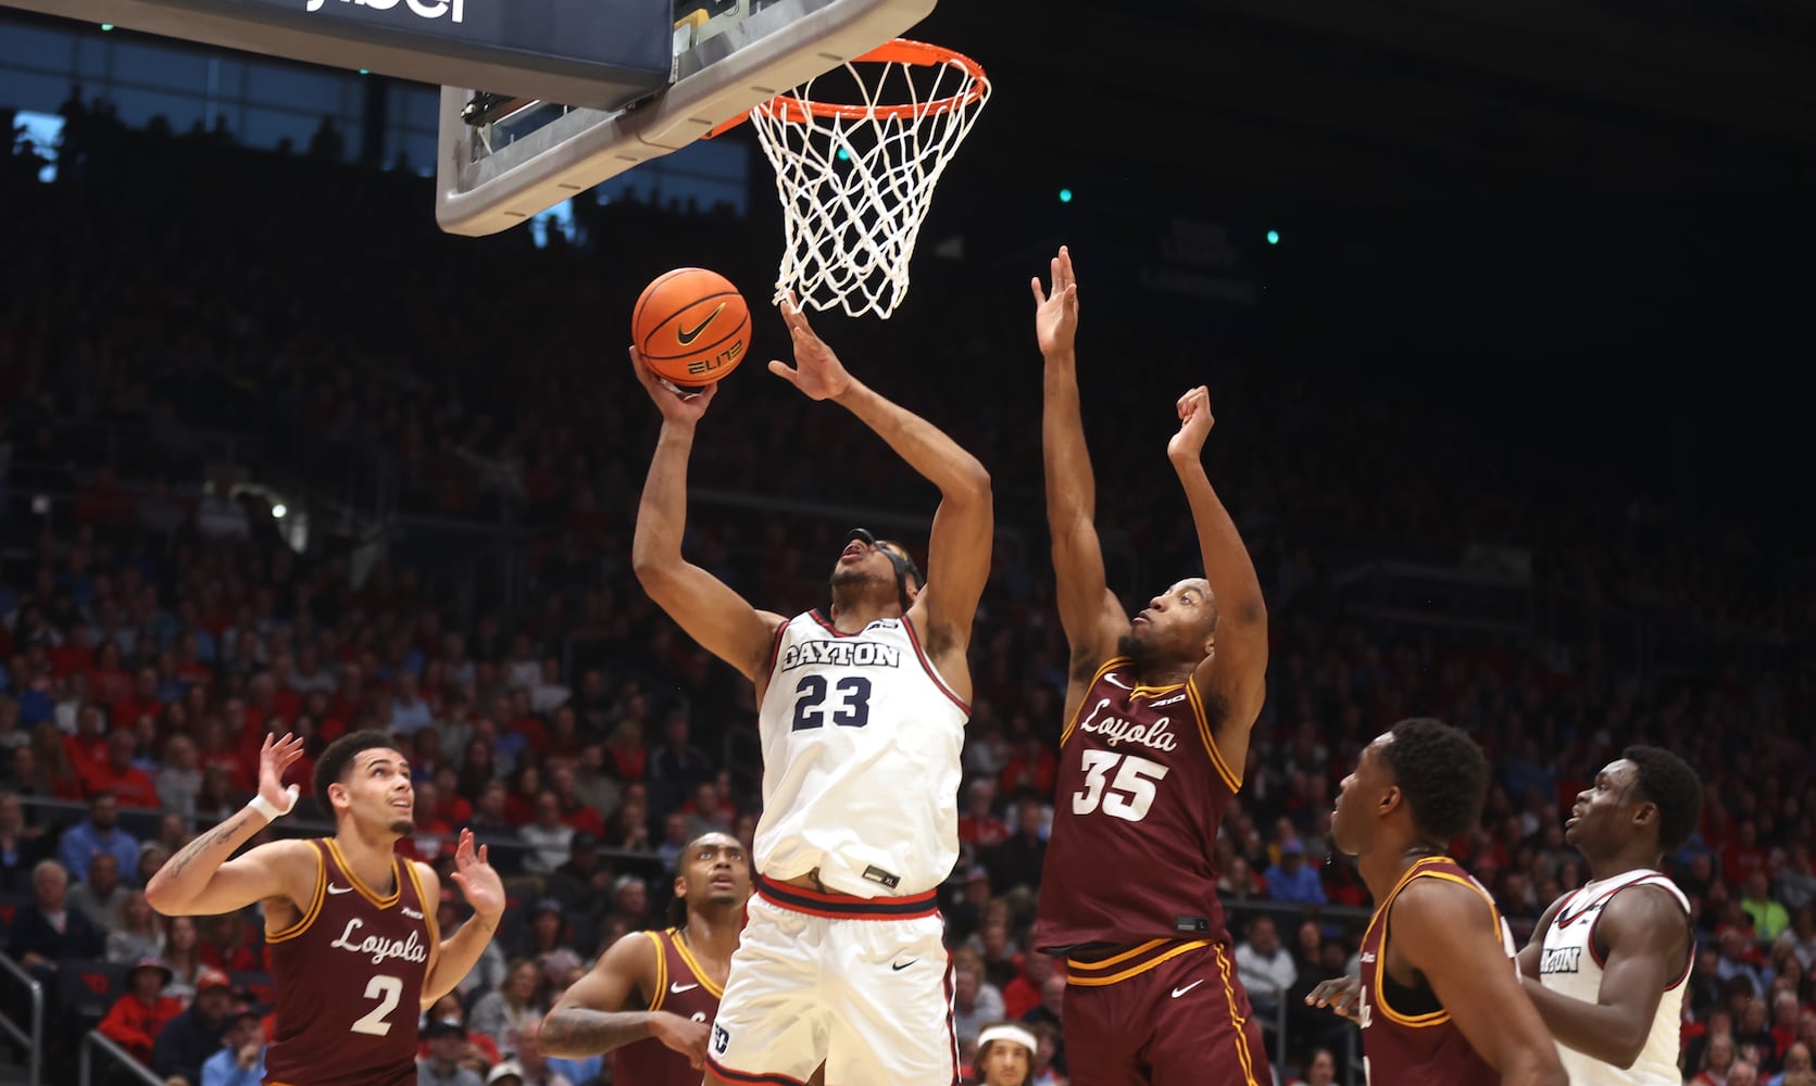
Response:
[[[1189,681],[1142,686],[1128,657],[1097,668],[1059,737],[1035,946],[1229,941],[1211,846],[1242,777],[1215,723]]]

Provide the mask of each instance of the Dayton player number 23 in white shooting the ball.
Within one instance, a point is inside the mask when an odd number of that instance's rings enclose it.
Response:
[[[990,574],[984,467],[852,378],[794,300],[783,303],[795,369],[770,372],[835,400],[941,492],[928,576],[908,552],[852,532],[832,608],[755,610],[681,556],[686,461],[714,389],[677,396],[632,350],[663,412],[637,510],[634,563],[650,597],[757,686],[763,819],[757,893],[719,1017],[706,1082],[950,1086],[952,984],[937,886],[959,855],[959,748],[972,676],[966,647]]]

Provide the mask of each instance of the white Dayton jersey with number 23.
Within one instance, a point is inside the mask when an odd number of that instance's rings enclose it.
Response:
[[[855,897],[924,893],[959,859],[959,750],[970,706],[904,619],[839,634],[817,610],[775,636],[763,732],[755,864],[819,868]]]

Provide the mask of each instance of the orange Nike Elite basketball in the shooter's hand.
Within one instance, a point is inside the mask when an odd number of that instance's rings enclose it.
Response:
[[[750,307],[732,280],[703,267],[656,276],[630,311],[630,334],[659,378],[697,389],[745,360]]]

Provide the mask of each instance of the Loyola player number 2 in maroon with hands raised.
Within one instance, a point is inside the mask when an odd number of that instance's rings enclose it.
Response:
[[[410,766],[390,736],[354,732],[316,761],[314,792],[334,835],[271,841],[229,859],[289,814],[283,770],[300,737],[265,737],[258,795],[173,855],[145,886],[165,915],[214,915],[262,903],[276,988],[265,1053],[272,1086],[414,1086],[421,1010],[454,990],[498,930],[505,886],[461,832],[454,883],[474,919],[436,930],[441,879],[396,854],[414,832]]]

